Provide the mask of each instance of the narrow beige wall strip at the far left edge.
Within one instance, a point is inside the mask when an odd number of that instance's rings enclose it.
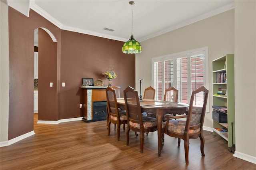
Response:
[[[8,6],[0,1],[0,142],[8,140]]]

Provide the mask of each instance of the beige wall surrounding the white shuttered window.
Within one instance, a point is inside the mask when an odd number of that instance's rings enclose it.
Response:
[[[234,53],[234,10],[146,40],[141,42],[141,45],[142,53],[136,55],[136,80],[144,79],[142,89],[152,85],[152,57],[208,46],[209,96],[212,96],[212,60]],[[138,80],[136,89],[140,89]],[[208,102],[210,113],[206,114],[204,127],[212,128],[212,97],[209,97]]]

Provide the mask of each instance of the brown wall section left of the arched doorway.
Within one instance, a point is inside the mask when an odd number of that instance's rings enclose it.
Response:
[[[32,131],[34,126],[34,30],[27,25],[29,18],[9,7],[8,140]]]

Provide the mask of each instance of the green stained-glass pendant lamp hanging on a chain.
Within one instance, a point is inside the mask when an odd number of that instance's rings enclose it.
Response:
[[[134,5],[134,1],[130,1],[129,4]],[[133,22],[133,20],[132,20]],[[136,54],[141,52],[141,45],[139,42],[137,42],[134,38],[133,35],[131,36],[130,40],[124,43],[123,45],[123,53],[126,54]]]

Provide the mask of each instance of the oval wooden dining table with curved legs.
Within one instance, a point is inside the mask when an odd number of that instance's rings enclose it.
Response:
[[[117,103],[120,109],[125,109],[124,98],[117,98]],[[143,102],[140,102],[140,107],[143,112],[148,114],[153,114],[157,119],[157,134],[158,134],[158,156],[161,156],[163,142],[162,134],[162,120],[164,115],[170,113],[173,115],[184,115],[188,112],[189,105],[186,103],[179,102],[170,102],[170,101],[159,101],[151,99],[143,99]]]

